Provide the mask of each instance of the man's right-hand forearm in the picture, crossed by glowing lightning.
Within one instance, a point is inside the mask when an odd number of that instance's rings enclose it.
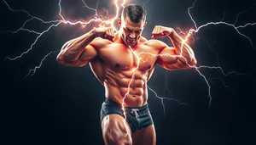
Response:
[[[184,42],[183,39],[178,36],[176,31],[172,31],[172,33],[169,35],[169,38],[172,41],[176,54],[182,56],[179,57],[180,61],[189,65],[196,64],[195,53],[193,49],[189,47],[187,42]]]

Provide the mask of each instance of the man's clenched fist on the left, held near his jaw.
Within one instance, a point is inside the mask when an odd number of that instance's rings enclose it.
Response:
[[[113,28],[112,27],[100,27],[94,30],[96,36],[103,39],[108,39],[113,42]]]

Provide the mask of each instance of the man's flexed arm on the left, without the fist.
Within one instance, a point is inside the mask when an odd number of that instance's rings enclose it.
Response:
[[[94,31],[66,42],[57,56],[57,61],[66,66],[84,66],[97,55],[96,48],[91,45],[96,38]]]

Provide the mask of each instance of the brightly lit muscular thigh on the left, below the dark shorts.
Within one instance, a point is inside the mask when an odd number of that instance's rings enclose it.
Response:
[[[102,136],[106,145],[132,145],[130,126],[119,114],[108,114],[102,120]]]

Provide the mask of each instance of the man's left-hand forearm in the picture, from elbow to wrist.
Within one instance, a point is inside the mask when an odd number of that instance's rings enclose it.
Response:
[[[79,36],[73,40],[66,42],[61,48],[61,53],[58,55],[58,59],[64,59],[64,61],[75,61],[79,59],[84,48],[90,44],[96,38],[93,31],[89,31],[83,36]]]

